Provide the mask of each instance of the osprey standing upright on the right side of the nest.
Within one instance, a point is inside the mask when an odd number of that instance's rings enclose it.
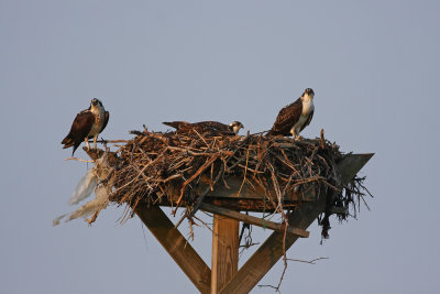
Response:
[[[300,138],[299,132],[309,126],[311,118],[314,117],[314,90],[307,88],[301,97],[279,111],[274,126],[267,132],[267,134],[292,134],[294,139]]]

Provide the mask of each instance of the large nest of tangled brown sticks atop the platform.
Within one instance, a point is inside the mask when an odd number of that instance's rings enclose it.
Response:
[[[136,137],[117,152],[109,197],[110,202],[127,204],[132,211],[140,202],[168,203],[174,206],[174,214],[177,207],[185,206],[186,216],[191,217],[205,195],[216,184],[228,187],[230,177],[264,188],[267,210],[283,216],[283,199],[288,193],[334,193],[328,208],[337,206],[345,211],[350,207],[355,211],[365,195],[364,178],[341,183],[337,164],[344,154],[322,133],[321,138],[299,141],[260,134],[216,137],[196,131],[132,133]],[[198,187],[206,187],[207,183],[208,188],[200,193]],[[324,238],[330,214],[327,209],[319,219]],[[346,215],[339,217],[345,219]]]

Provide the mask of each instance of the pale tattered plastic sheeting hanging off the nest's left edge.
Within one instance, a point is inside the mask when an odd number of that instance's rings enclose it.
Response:
[[[107,208],[112,186],[112,174],[114,168],[108,163],[108,156],[105,154],[95,162],[95,166],[90,168],[79,181],[70,204],[78,204],[80,200],[89,197],[95,190],[95,199],[89,200],[73,213],[62,215],[53,220],[53,226],[59,225],[62,220],[65,222],[73,219],[84,217],[89,224],[94,222],[101,209]],[[109,185],[98,185],[98,182],[107,182]],[[98,185],[98,186],[97,186]],[[87,219],[90,217],[90,219]]]

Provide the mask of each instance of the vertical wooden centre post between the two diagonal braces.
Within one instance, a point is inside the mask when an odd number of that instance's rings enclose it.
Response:
[[[213,216],[211,294],[219,293],[239,270],[239,221]]]

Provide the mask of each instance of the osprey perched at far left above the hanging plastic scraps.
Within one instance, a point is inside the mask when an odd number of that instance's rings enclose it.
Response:
[[[106,129],[109,116],[109,111],[106,111],[99,99],[91,99],[90,107],[76,116],[69,133],[62,142],[63,149],[74,146],[72,151],[72,156],[74,156],[75,150],[82,141],[86,141],[87,148],[90,150],[90,138],[94,138],[94,144],[97,148],[98,134]]]

